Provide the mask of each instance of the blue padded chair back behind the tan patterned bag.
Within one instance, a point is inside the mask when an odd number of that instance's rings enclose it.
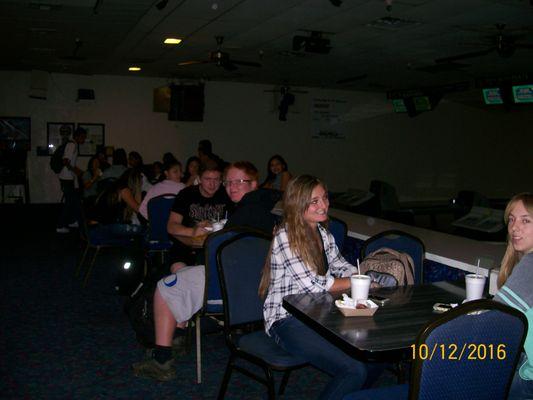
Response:
[[[426,248],[419,238],[398,230],[378,233],[365,241],[361,248],[361,258],[382,247],[409,254],[415,267],[415,285],[424,281],[424,254],[426,253]]]

